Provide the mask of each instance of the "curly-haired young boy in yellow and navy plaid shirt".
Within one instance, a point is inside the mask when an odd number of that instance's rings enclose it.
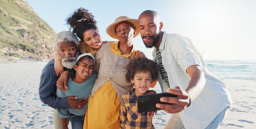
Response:
[[[121,128],[154,128],[152,118],[147,117],[147,112],[138,112],[137,97],[156,93],[148,90],[150,85],[157,80],[158,66],[148,58],[135,58],[126,65],[126,80],[134,85],[134,89],[122,96],[120,106]]]

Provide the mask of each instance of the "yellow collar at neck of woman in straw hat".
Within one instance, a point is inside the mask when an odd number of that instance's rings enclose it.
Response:
[[[126,57],[126,58],[130,57],[131,59],[134,57],[134,55],[135,55],[135,50],[134,50],[133,44],[132,44],[132,51],[131,51],[131,53],[129,53],[129,54],[124,54],[124,55],[122,55],[120,49],[118,48],[118,44],[119,44],[119,42],[118,42],[118,43],[113,43],[113,44],[111,44],[111,46],[110,46],[110,50],[111,50],[115,55],[121,56],[121,57]]]

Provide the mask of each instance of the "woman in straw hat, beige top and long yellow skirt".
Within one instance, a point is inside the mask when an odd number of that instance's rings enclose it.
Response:
[[[132,90],[132,83],[125,81],[124,66],[136,55],[132,39],[138,36],[138,29],[138,20],[124,16],[107,27],[109,36],[119,41],[102,45],[95,55],[99,75],[88,101],[84,128],[120,128],[120,97]]]

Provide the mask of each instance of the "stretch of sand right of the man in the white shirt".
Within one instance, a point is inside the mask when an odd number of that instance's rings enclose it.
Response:
[[[256,81],[223,79],[232,97],[232,108],[221,128],[256,128]]]

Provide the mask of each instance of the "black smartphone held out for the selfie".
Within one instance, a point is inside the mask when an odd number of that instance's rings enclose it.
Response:
[[[164,102],[160,102],[161,97],[177,97],[177,95],[173,95],[171,93],[156,93],[151,95],[143,95],[138,97],[138,112],[150,112],[161,110],[156,107],[157,103],[168,104]]]

